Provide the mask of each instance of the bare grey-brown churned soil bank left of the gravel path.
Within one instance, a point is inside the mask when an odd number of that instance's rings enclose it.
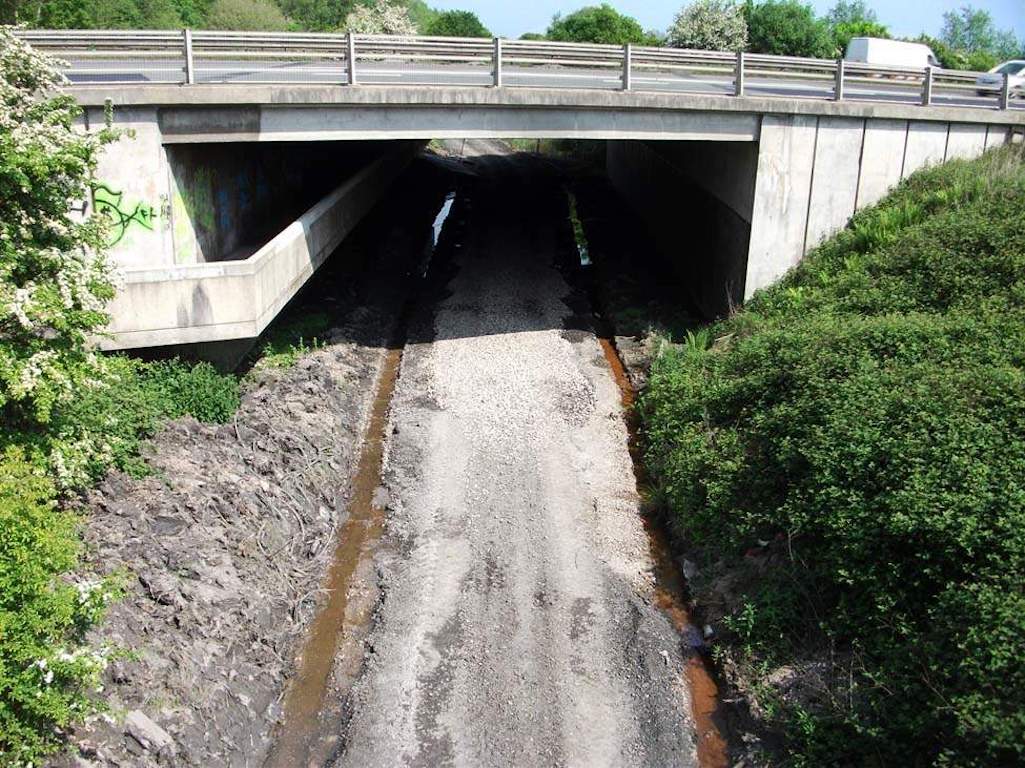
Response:
[[[257,367],[234,423],[169,425],[150,446],[152,477],[112,475],[86,499],[90,564],[128,580],[93,640],[132,655],[109,671],[112,717],[73,734],[80,765],[262,760],[429,243],[443,194],[432,178],[414,168],[388,201],[403,228],[375,211],[311,281],[308,295],[334,308],[324,347],[290,369]]]

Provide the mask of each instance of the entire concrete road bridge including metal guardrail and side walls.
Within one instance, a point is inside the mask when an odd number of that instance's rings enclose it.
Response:
[[[254,338],[432,138],[607,143],[709,315],[913,171],[1021,140],[973,73],[633,46],[26,31],[68,63],[124,273],[112,348]],[[344,180],[338,185],[339,178]],[[704,255],[680,254],[682,215]],[[693,250],[693,249],[692,249]]]

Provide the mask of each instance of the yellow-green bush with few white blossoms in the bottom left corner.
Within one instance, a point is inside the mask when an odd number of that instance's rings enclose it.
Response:
[[[54,495],[22,451],[0,455],[0,765],[38,765],[60,729],[102,709],[107,654],[83,638],[118,587],[72,576],[78,521]]]

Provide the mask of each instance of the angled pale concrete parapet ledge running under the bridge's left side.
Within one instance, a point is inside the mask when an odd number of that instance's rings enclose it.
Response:
[[[242,261],[138,268],[111,302],[107,350],[253,338],[384,195],[419,143],[374,161]]]

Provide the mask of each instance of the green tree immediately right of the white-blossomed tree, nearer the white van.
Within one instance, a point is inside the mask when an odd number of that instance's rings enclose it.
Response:
[[[748,3],[747,37],[754,53],[831,58],[836,53],[829,28],[797,0]]]

